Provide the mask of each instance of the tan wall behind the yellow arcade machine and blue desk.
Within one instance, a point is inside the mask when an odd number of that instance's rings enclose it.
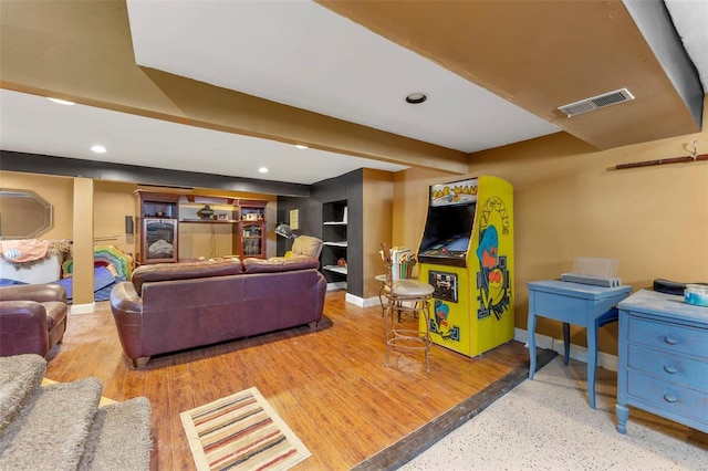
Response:
[[[708,121],[708,119],[707,119]],[[708,161],[614,170],[617,164],[708,151],[698,134],[598,151],[559,133],[471,156],[470,176],[494,175],[514,187],[516,326],[525,329],[533,280],[556,279],[575,257],[620,259],[634,291],[654,279],[708,281]],[[425,224],[426,185],[451,181],[430,171],[396,176],[394,241],[417,247]],[[617,324],[603,327],[600,349],[616,354]],[[561,338],[558,322],[537,332]],[[585,344],[572,328],[572,342]]]

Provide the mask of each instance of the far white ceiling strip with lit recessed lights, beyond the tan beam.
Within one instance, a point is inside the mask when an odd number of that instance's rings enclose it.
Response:
[[[406,167],[0,90],[4,150],[311,185],[357,168]],[[103,145],[106,154],[90,150]],[[267,167],[268,174],[260,174]]]

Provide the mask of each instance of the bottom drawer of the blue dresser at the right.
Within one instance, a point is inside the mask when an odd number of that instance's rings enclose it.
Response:
[[[649,412],[668,412],[673,416],[690,418],[708,426],[708,394],[683,388],[668,381],[662,381],[648,375],[628,371],[628,394],[639,399],[638,405]],[[634,404],[634,401],[629,401]]]

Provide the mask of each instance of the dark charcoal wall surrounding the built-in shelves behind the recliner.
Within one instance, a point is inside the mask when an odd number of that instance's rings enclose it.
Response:
[[[351,171],[341,177],[319,181],[310,187],[310,198],[278,198],[278,222],[288,222],[291,209],[300,210],[300,230],[298,234],[322,238],[322,205],[330,201],[347,201],[347,293],[364,296],[364,171]],[[292,247],[283,238],[278,241],[278,254],[285,253]],[[282,252],[281,252],[282,250]],[[326,247],[323,251],[326,250]],[[341,278],[324,271],[327,282],[341,281]]]

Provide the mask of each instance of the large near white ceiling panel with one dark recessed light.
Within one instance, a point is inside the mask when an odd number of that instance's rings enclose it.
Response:
[[[465,153],[559,130],[311,1],[127,6],[139,65]]]

